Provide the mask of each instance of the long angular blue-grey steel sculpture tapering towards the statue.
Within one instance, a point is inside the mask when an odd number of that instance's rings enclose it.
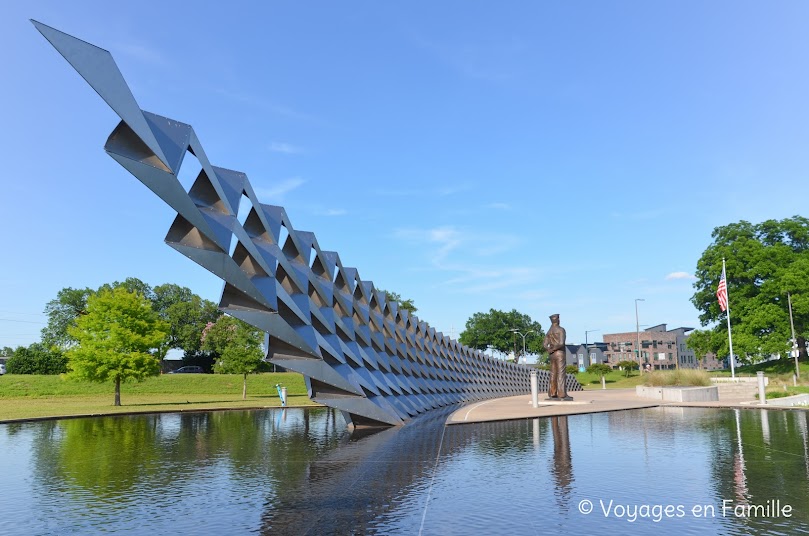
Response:
[[[528,393],[529,369],[459,344],[389,302],[315,235],[264,205],[247,176],[214,166],[190,125],[141,110],[112,55],[37,30],[121,118],[104,146],[177,217],[166,243],[225,281],[220,309],[269,334],[268,357],[306,378],[349,424],[399,425],[449,404]],[[178,180],[189,153],[201,171]],[[241,209],[241,210],[240,210]],[[548,375],[540,372],[540,389]],[[568,376],[568,390],[581,390]]]

